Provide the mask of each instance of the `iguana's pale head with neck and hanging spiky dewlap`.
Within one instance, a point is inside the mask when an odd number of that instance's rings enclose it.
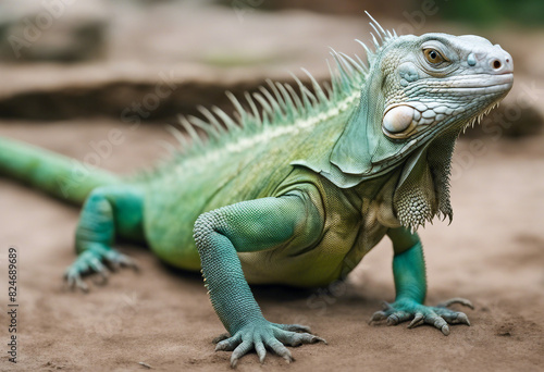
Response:
[[[359,108],[330,160],[361,177],[401,169],[394,209],[407,227],[436,214],[452,219],[455,141],[510,90],[512,59],[472,35],[380,36]]]

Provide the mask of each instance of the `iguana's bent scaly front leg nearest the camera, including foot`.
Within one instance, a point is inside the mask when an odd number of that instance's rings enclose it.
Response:
[[[324,342],[309,334],[308,327],[265,320],[237,256],[237,252],[273,249],[287,241],[309,246],[319,236],[322,225],[322,218],[306,193],[244,201],[198,218],[194,236],[202,275],[213,308],[231,336],[219,342],[215,350],[234,350],[232,367],[251,349],[257,351],[261,362],[265,348],[292,361],[284,344]]]

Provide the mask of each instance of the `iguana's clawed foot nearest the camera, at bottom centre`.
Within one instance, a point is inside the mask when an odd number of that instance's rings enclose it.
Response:
[[[215,351],[233,351],[231,367],[235,368],[238,359],[255,349],[259,361],[262,363],[267,356],[267,348],[290,363],[294,359],[290,351],[284,346],[300,346],[302,344],[316,344],[326,342],[310,333],[310,328],[298,324],[275,324],[262,319],[254,321],[232,337],[227,334],[221,335],[213,340]]]

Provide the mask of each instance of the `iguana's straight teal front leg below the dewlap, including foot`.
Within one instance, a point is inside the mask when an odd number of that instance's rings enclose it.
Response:
[[[395,302],[384,303],[382,311],[375,312],[370,322],[387,320],[394,325],[412,320],[408,327],[420,324],[431,324],[449,334],[449,324],[467,324],[467,315],[460,311],[447,309],[453,303],[460,303],[473,309],[470,301],[462,298],[453,298],[438,303],[436,307],[424,306],[426,294],[425,262],[423,249],[417,234],[411,234],[404,227],[392,228],[387,232],[393,241],[395,257],[393,259],[393,275],[395,278]]]

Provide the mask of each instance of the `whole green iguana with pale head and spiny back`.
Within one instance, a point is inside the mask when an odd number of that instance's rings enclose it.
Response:
[[[217,350],[231,364],[255,349],[287,361],[285,345],[324,342],[307,326],[264,319],[248,283],[323,286],[344,278],[385,235],[393,241],[396,298],[371,321],[449,333],[469,324],[448,305],[424,306],[425,266],[416,233],[438,215],[452,220],[449,170],[455,141],[511,88],[512,60],[478,36],[397,36],[373,18],[368,65],[333,50],[332,84],[313,92],[269,82],[249,109],[230,95],[236,120],[218,108],[208,122],[182,117],[190,146],[152,172],[122,178],[77,172],[61,156],[0,139],[0,172],[82,203],[76,261],[65,278],[107,276],[133,265],[113,248],[141,240],[165,262],[200,270],[228,335]],[[380,39],[380,41],[379,41]],[[258,104],[261,109],[258,109]],[[205,129],[201,140],[195,126]],[[226,128],[226,129],[225,129]]]

